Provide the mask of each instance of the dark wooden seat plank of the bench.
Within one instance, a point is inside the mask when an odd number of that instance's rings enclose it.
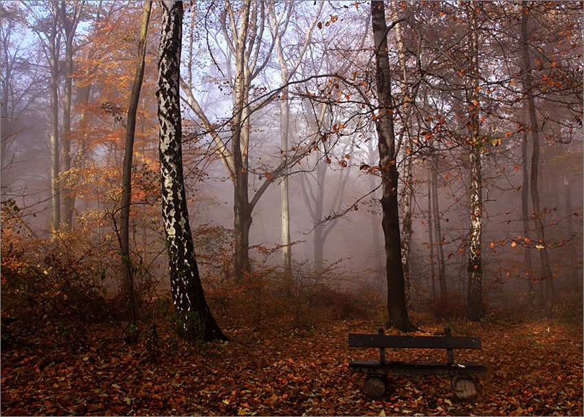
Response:
[[[349,369],[363,374],[381,375],[476,375],[486,373],[486,366],[478,363],[427,363],[354,361]]]

